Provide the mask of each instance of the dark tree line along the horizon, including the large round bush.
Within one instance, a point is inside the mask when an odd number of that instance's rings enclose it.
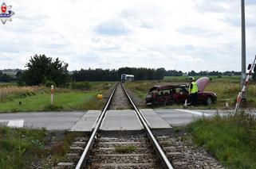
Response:
[[[164,76],[211,76],[211,75],[241,75],[241,71],[175,71],[164,68],[136,68],[121,67],[119,69],[81,69],[80,71],[68,71],[69,64],[58,58],[53,60],[45,55],[35,55],[30,57],[26,63],[25,71],[18,71],[16,77],[10,77],[0,71],[0,82],[17,81],[19,85],[56,85],[64,86],[68,82],[84,82],[84,81],[120,81],[122,74],[134,75],[135,80],[160,80]],[[256,72],[256,67],[254,67]],[[256,80],[254,73],[253,79]]]

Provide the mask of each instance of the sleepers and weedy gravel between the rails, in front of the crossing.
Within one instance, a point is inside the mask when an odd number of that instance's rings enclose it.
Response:
[[[97,139],[88,168],[160,167],[145,133],[108,133]]]

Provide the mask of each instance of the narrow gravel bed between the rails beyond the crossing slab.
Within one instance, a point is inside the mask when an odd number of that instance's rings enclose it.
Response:
[[[132,105],[128,101],[127,96],[124,93],[124,90],[122,89],[122,86],[120,84],[117,84],[116,92],[112,98],[112,103],[109,107],[109,109],[131,109]]]

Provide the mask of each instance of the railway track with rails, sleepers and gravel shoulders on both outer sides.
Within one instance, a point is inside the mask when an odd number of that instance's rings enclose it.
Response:
[[[126,102],[120,101],[122,98],[125,98]],[[109,108],[128,107],[135,109],[144,130],[100,131],[100,125]],[[93,133],[89,138],[83,139],[75,141],[71,146],[67,155],[70,162],[59,163],[61,165],[56,168],[223,168],[211,163],[200,164],[205,163],[203,159],[194,158],[191,153],[193,150],[187,150],[186,146],[171,137],[170,133],[154,131],[153,134],[144,115],[120,83],[113,88],[108,102],[96,120]]]

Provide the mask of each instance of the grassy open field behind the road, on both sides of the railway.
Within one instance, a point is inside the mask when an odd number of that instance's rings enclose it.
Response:
[[[199,78],[199,77],[196,77]],[[239,76],[211,76],[210,85],[206,90],[214,91],[218,98],[212,106],[197,106],[197,109],[226,109],[226,102],[234,108],[240,88]],[[165,77],[163,80],[136,81],[126,83],[126,86],[142,100],[146,98],[148,90],[157,84],[187,83],[187,77]],[[96,100],[96,94],[105,94],[113,83],[83,82],[68,83],[63,88],[57,88],[54,95],[54,106],[50,105],[50,90],[45,86],[16,86],[13,83],[0,84],[0,112],[26,112],[49,110],[87,110],[100,109],[104,102]],[[256,85],[250,83],[246,107],[256,106]],[[183,105],[166,106],[177,108]]]

